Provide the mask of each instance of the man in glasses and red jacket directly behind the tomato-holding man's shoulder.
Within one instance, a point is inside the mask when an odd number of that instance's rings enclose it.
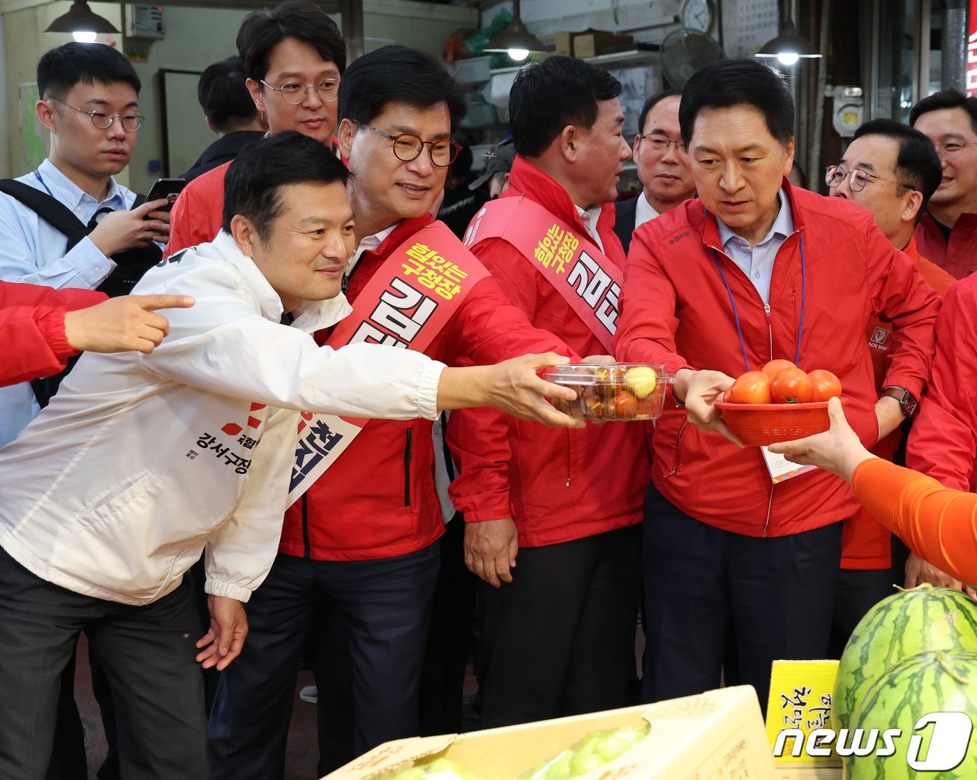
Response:
[[[913,228],[940,185],[940,158],[926,136],[894,119],[866,122],[855,131],[840,163],[828,166],[825,181],[833,196],[871,211],[875,225],[890,243],[910,256],[941,298],[946,296],[956,280],[921,257],[913,238]],[[878,317],[872,317],[866,328],[879,395],[886,391],[892,332],[892,323]],[[888,461],[897,457],[902,460],[904,453],[899,450],[904,449],[903,431],[900,427],[879,440],[871,448],[872,454]],[[894,584],[914,588],[929,582],[959,588],[958,582],[916,555],[909,554],[906,559],[906,553],[865,508],[844,521],[829,657],[839,657],[858,622],[872,605],[892,595]]]

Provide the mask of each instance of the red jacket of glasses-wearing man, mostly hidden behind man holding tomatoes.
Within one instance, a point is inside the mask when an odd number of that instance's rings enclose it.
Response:
[[[916,268],[936,290],[941,299],[947,297],[947,292],[954,286],[956,279],[939,266],[935,266],[916,250],[915,239],[910,238],[909,244],[903,249],[915,262]],[[885,387],[885,369],[889,355],[889,337],[892,335],[892,323],[885,322],[878,317],[872,317],[866,336],[869,339],[871,351],[872,376],[875,381],[875,391],[881,394]],[[892,431],[871,448],[872,455],[891,461],[899,449],[903,437],[902,426]],[[887,569],[892,565],[892,533],[869,511],[860,506],[858,512],[845,520],[841,530],[841,568],[843,569]]]

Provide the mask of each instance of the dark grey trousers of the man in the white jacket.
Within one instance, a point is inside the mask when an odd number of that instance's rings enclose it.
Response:
[[[61,676],[81,631],[106,673],[126,780],[209,780],[190,589],[145,606],[76,594],[0,550],[0,778],[40,780]]]

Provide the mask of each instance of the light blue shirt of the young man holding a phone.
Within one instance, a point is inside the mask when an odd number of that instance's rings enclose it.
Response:
[[[50,160],[17,181],[53,195],[85,225],[104,206],[128,209],[136,200],[135,192],[109,178],[106,199],[100,203]],[[0,279],[93,290],[115,267],[90,238],[83,238],[70,252],[64,251],[66,247],[67,237],[61,230],[48,225],[19,200],[0,193]],[[0,447],[17,438],[39,411],[30,383],[0,388]]]

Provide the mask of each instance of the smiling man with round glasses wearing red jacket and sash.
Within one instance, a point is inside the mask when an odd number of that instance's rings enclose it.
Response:
[[[358,248],[343,283],[353,312],[320,331],[319,343],[338,347],[352,334],[448,365],[571,354],[534,329],[447,226],[431,220],[465,109],[445,68],[404,46],[366,54],[344,74],[337,137],[356,215]],[[330,431],[342,424],[327,422]],[[374,420],[354,435],[327,467],[302,475],[308,490],[285,514],[275,563],[248,601],[248,644],[222,673],[210,716],[215,780],[281,776],[299,655],[328,608],[338,611],[335,636],[351,651],[354,733],[345,757],[320,756],[319,773],[420,733],[419,680],[445,533],[431,424]],[[332,649],[314,644],[317,659]],[[321,705],[329,706],[324,686],[337,682],[317,682],[319,718],[331,720]]]

